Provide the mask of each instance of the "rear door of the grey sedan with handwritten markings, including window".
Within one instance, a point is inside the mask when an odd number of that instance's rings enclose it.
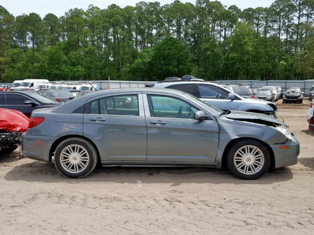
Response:
[[[102,161],[146,161],[147,129],[141,93],[105,95],[85,104],[84,136]]]

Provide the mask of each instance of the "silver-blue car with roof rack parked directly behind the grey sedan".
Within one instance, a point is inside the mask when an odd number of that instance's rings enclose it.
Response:
[[[276,116],[276,104],[264,100],[243,98],[215,83],[179,80],[147,85],[153,86],[153,88],[170,88],[192,94],[221,110],[238,110]]]

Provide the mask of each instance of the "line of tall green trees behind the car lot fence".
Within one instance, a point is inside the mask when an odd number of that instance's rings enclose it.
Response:
[[[0,6],[0,82],[313,79],[314,0],[269,7],[219,1],[90,5],[61,17],[14,17]]]

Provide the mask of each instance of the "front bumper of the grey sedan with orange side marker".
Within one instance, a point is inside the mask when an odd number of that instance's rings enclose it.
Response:
[[[281,149],[281,146],[288,146]],[[293,138],[292,141],[286,141],[281,144],[271,144],[275,156],[275,168],[294,165],[298,163],[298,155],[300,153],[300,143]]]

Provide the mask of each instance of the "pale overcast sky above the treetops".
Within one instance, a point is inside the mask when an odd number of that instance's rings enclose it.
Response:
[[[135,6],[136,2],[140,0],[0,0],[0,5],[6,8],[14,16],[29,14],[35,12],[41,17],[48,13],[60,17],[71,8],[82,8],[84,10],[90,4],[98,6],[101,9],[106,8],[110,4],[117,4],[120,7],[126,5]],[[145,1],[159,1],[161,5],[171,3],[174,0],[145,0]],[[195,4],[195,0],[181,0],[182,2],[191,2]],[[242,10],[248,7],[266,7],[270,6],[274,0],[220,0],[226,6],[236,5]]]

